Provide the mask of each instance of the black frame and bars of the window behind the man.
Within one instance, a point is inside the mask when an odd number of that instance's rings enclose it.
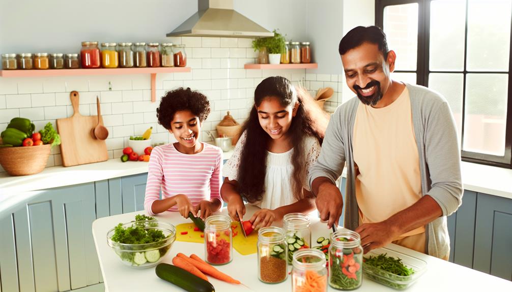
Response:
[[[417,52],[417,65],[416,70],[395,70],[395,72],[416,73],[416,83],[418,85],[429,85],[430,73],[454,73],[452,71],[431,71],[429,69],[430,57],[430,4],[433,0],[375,0],[375,25],[383,28],[384,8],[393,5],[402,4],[418,4],[418,52]],[[464,45],[464,70],[456,71],[457,74],[463,74],[463,91],[462,91],[462,137],[461,137],[461,157],[462,161],[474,162],[486,165],[493,165],[505,168],[512,168],[512,21],[510,21],[510,49],[508,59],[508,71],[467,71],[466,69],[466,56],[467,56],[467,9],[468,1],[466,2],[466,23],[465,23],[465,45]],[[512,13],[512,12],[511,12]],[[389,48],[393,50],[392,47]],[[508,74],[508,92],[507,92],[507,116],[505,126],[505,154],[504,156],[496,156],[478,152],[470,152],[462,150],[464,142],[464,118],[465,118],[465,100],[466,100],[466,77],[467,74]]]

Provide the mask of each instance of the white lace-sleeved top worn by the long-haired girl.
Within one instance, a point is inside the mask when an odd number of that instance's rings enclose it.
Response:
[[[244,132],[234,148],[233,155],[224,164],[222,174],[229,180],[238,180],[238,169],[245,140],[246,133]],[[291,164],[293,151],[294,149],[292,148],[285,153],[268,152],[267,173],[265,175],[265,193],[263,194],[262,201],[255,202],[252,205],[265,209],[275,209],[296,202],[293,198],[291,185],[291,182],[293,181],[293,165]],[[306,178],[309,175],[310,167],[320,154],[320,143],[314,137],[307,137],[304,141],[303,151],[307,153],[305,162],[306,176],[303,186],[305,189],[309,190]]]

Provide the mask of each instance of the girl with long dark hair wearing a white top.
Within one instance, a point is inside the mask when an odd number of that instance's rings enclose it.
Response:
[[[249,220],[253,228],[315,209],[306,178],[327,124],[327,114],[288,79],[269,77],[256,87],[242,135],[223,168],[221,196],[234,221],[245,214],[242,199],[261,208]]]

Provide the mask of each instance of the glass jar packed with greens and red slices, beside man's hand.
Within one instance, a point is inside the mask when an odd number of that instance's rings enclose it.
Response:
[[[340,229],[331,234],[329,247],[329,285],[338,290],[353,290],[362,283],[362,247],[358,233]]]

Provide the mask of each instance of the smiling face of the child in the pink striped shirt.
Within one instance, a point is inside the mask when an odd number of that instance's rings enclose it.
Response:
[[[173,120],[170,121],[169,132],[173,133],[176,140],[178,140],[178,151],[194,153],[201,148],[201,143],[198,143],[201,122],[199,117],[191,111],[177,111]]]

